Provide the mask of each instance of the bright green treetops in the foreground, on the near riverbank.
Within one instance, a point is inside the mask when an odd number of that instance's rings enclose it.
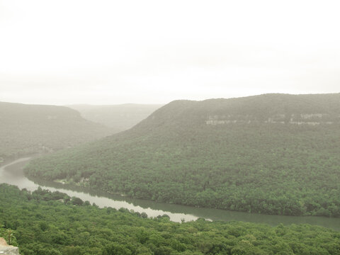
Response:
[[[323,227],[176,223],[7,184],[0,185],[0,230],[21,255],[340,254],[340,233]]]

